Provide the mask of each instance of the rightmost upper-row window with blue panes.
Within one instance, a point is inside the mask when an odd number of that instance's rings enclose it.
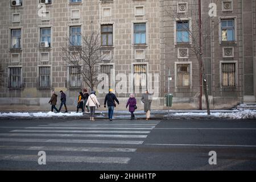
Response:
[[[234,19],[221,20],[222,42],[235,41]]]

